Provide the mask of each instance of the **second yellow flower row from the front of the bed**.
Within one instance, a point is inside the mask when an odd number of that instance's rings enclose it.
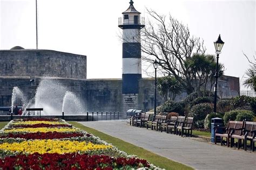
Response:
[[[79,131],[76,128],[70,128],[70,127],[62,127],[62,128],[57,128],[57,127],[37,127],[37,128],[14,128],[11,130],[4,130],[4,132],[9,133],[9,132],[29,132],[29,133],[36,133],[36,132],[76,132]]]

